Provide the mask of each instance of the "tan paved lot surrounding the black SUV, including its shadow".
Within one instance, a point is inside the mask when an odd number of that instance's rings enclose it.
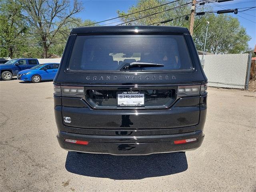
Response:
[[[0,81],[0,191],[256,192],[256,92],[209,88],[198,150],[112,156],[60,148],[52,91]]]

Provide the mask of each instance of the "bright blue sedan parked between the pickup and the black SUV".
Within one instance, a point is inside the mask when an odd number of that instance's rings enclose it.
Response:
[[[39,64],[30,69],[18,72],[17,78],[22,81],[32,81],[33,83],[39,83],[44,80],[53,80],[59,65],[59,63]]]

